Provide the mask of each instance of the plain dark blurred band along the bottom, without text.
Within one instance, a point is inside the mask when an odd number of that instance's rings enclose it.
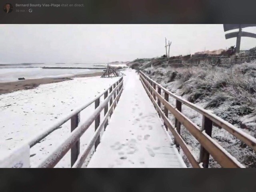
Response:
[[[256,169],[0,169],[1,192],[255,192]]]

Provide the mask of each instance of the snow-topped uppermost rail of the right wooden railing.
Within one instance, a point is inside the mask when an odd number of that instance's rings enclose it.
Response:
[[[143,72],[141,72],[141,74],[143,76],[146,76]],[[195,104],[193,104],[191,102],[188,102],[187,100],[185,100],[184,98],[182,98],[180,96],[176,96],[175,94],[173,94],[172,92],[166,90],[166,88],[164,88],[160,84],[154,82],[153,80],[151,80],[151,79],[149,79],[149,80],[151,82],[153,82],[154,84],[156,84],[158,87],[160,87],[162,90],[164,90],[164,92],[169,94],[169,96],[171,96],[172,98],[175,98],[176,100],[182,102],[182,104],[185,104],[186,106],[188,106],[188,107],[194,109],[195,111],[199,112],[200,114],[206,116],[207,118],[212,120],[212,122],[216,123],[221,128],[224,128],[230,134],[234,135],[240,141],[244,142],[245,144],[247,144],[253,150],[256,151],[256,138],[254,138],[253,136],[247,134],[246,132],[243,132],[242,130],[240,130],[236,126],[226,122],[225,120],[223,120],[220,117],[214,115],[213,113],[209,112],[208,110],[205,110],[205,109],[203,109],[203,108],[201,108],[199,106],[196,106]]]

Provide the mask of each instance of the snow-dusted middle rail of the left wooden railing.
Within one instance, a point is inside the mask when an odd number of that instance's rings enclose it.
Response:
[[[84,132],[89,128],[89,126],[96,120],[100,112],[108,105],[108,102],[119,89],[122,87],[123,80],[116,86],[109,96],[94,110],[91,116],[84,123],[80,123],[78,127],[70,133],[70,135],[64,139],[61,144],[56,148],[39,166],[38,168],[53,168],[59,161],[64,157],[64,155],[74,146],[78,139],[84,134]]]

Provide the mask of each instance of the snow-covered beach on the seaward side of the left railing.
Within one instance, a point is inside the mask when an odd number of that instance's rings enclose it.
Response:
[[[118,78],[75,78],[74,80],[44,84],[30,90],[20,90],[0,95],[0,152],[8,152],[22,142],[34,138],[54,121],[71,110],[87,103]],[[11,106],[6,106],[11,105]],[[3,107],[5,106],[5,107]],[[94,104],[81,112],[85,121],[94,110]],[[30,163],[35,167],[70,133],[70,120],[55,130],[30,150]],[[80,140],[83,150],[94,133],[94,124]],[[70,152],[56,167],[70,167]]]

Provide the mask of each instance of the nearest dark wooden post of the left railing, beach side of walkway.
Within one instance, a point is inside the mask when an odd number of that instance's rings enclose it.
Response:
[[[80,113],[72,116],[70,118],[70,122],[71,122],[71,132],[72,132],[75,128],[77,128],[80,122]],[[76,162],[79,152],[80,152],[80,139],[78,139],[77,142],[74,144],[74,146],[71,148],[71,167]]]

